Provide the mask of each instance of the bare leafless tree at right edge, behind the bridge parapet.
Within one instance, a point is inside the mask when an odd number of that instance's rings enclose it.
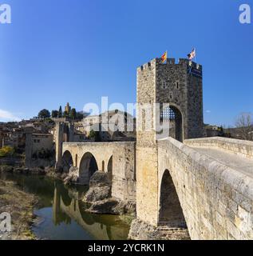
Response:
[[[253,140],[253,115],[251,113],[240,114],[236,119],[235,126],[239,138]]]

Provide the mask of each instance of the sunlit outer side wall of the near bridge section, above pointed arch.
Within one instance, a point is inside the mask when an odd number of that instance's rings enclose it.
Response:
[[[158,142],[159,192],[164,170],[192,239],[253,239],[252,178],[173,138]]]

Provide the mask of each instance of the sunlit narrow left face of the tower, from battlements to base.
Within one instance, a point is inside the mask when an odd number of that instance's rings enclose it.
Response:
[[[136,214],[150,224],[157,222],[157,149],[156,132],[145,130],[147,122],[154,124],[142,106],[156,103],[156,59],[137,69],[137,131],[136,131]],[[140,123],[140,121],[142,121]]]

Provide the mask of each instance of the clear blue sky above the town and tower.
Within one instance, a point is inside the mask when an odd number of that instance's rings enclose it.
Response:
[[[0,121],[69,102],[136,102],[136,67],[196,47],[204,66],[204,122],[253,112],[253,24],[235,0],[5,0],[0,24]],[[253,16],[253,14],[251,14]],[[253,17],[252,17],[253,18]]]

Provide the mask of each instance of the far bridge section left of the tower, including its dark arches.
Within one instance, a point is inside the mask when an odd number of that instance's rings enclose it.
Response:
[[[112,182],[113,197],[136,197],[135,142],[63,142],[61,165],[78,168],[79,182],[89,185],[97,170],[105,171]]]

